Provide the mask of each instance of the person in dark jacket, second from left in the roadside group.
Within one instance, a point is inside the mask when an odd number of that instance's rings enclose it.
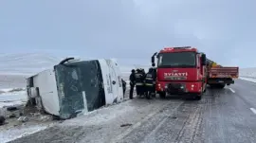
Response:
[[[142,69],[137,69],[136,72],[136,90],[137,90],[137,97],[142,98],[144,95],[143,91],[144,86],[144,74]]]

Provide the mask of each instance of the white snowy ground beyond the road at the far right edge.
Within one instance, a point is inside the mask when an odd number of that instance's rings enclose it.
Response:
[[[256,67],[240,69],[239,79],[256,82]]]

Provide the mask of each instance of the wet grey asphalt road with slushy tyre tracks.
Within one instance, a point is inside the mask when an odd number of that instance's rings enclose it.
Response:
[[[11,142],[255,143],[256,83],[235,80],[200,101],[135,98]]]

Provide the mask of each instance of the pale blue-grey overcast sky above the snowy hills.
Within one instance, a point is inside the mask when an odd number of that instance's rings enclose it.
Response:
[[[1,53],[149,63],[192,45],[218,63],[256,66],[255,0],[1,0]]]

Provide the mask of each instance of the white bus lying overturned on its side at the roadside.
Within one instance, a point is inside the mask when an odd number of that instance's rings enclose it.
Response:
[[[29,77],[28,102],[67,119],[123,100],[121,73],[115,60],[73,60],[67,58]]]

